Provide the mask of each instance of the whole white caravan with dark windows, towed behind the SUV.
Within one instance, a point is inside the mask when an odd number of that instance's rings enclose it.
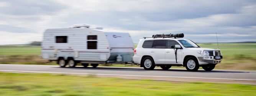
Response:
[[[132,62],[134,44],[130,34],[90,28],[88,24],[75,24],[71,28],[46,29],[42,42],[42,58],[75,67],[98,64]]]

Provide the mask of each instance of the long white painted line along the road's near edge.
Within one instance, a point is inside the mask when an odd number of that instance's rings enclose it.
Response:
[[[84,74],[84,75],[111,75],[111,76],[134,76],[134,77],[163,77],[163,78],[190,78],[190,79],[216,79],[216,80],[244,80],[244,81],[256,81],[256,80],[249,80],[249,79],[228,79],[228,78],[167,77],[167,76],[117,75],[117,74],[86,74],[86,73],[41,72],[41,71],[16,71],[16,70],[0,70],[0,71],[5,71],[5,72],[54,73],[54,74]]]

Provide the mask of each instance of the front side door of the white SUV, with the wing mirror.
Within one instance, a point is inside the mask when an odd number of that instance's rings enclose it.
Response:
[[[175,40],[167,40],[167,49],[165,54],[165,63],[166,64],[182,64],[182,49],[177,50],[177,63],[175,58],[175,50],[171,46],[179,45]]]

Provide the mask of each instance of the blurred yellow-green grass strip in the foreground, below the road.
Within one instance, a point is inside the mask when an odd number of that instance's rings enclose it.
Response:
[[[0,96],[256,96],[256,85],[0,73]]]

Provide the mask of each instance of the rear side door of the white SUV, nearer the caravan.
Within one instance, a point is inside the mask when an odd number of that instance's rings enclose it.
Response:
[[[152,48],[149,54],[153,57],[155,64],[165,63],[165,49],[166,49],[166,40],[153,41]]]

